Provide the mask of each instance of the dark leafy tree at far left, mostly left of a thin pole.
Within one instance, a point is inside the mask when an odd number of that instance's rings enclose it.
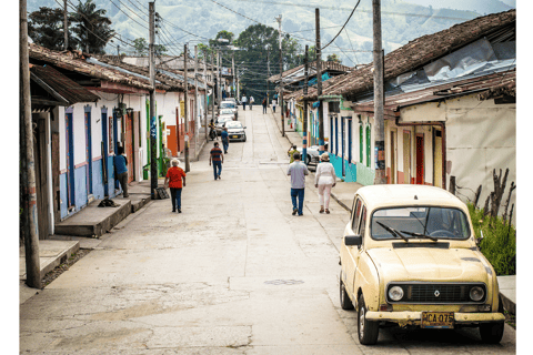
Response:
[[[70,21],[70,20],[69,20]],[[51,50],[64,49],[63,11],[40,7],[28,16],[28,36],[34,43]],[[78,41],[69,31],[69,45],[76,48]]]

